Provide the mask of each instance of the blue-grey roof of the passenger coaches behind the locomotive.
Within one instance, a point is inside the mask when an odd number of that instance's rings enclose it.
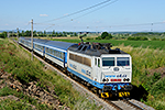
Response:
[[[20,38],[23,38],[23,40],[26,40],[26,41],[31,42],[30,37],[20,37]],[[47,45],[47,46],[57,47],[57,48],[61,48],[61,50],[64,50],[64,51],[67,51],[68,47],[73,46],[73,45],[77,45],[77,44],[74,44],[74,43],[66,43],[66,42],[59,42],[59,41],[50,41],[50,40],[42,40],[42,38],[33,38],[33,42],[45,45],[45,46]]]

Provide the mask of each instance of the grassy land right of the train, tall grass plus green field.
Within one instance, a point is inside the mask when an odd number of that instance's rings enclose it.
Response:
[[[57,41],[80,42],[80,40]],[[129,53],[133,61],[132,84],[146,91],[140,97],[141,101],[157,110],[165,110],[165,41],[101,40],[90,42],[112,43],[116,47]]]

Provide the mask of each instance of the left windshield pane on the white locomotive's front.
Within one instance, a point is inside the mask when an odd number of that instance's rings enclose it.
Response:
[[[114,57],[103,57],[102,66],[114,66]]]

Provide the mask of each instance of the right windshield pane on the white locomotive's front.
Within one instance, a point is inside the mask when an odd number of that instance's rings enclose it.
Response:
[[[129,57],[117,57],[117,66],[130,66]]]

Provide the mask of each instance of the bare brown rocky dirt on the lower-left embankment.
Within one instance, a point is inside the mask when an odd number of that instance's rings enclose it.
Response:
[[[70,110],[68,107],[64,106],[56,96],[55,90],[47,88],[47,90],[37,86],[36,81],[29,82],[26,85],[21,84],[19,80],[15,80],[11,74],[0,70],[0,89],[9,87],[14,89],[18,92],[23,92],[24,95],[32,97],[37,100],[38,103],[45,103],[54,110]],[[0,97],[1,100],[12,99],[20,101],[20,98],[15,96],[4,96]],[[29,105],[29,103],[25,103]],[[35,106],[30,105],[35,110]]]

